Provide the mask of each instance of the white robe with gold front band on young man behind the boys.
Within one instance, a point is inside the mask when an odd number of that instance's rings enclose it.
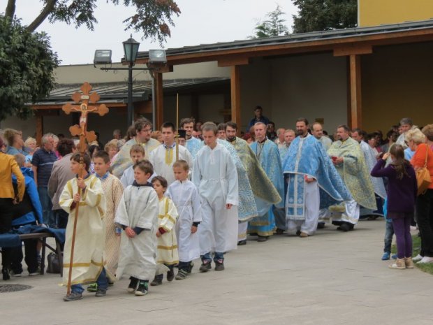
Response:
[[[183,145],[179,145],[179,159],[182,159],[188,163],[189,169],[193,167],[193,159],[188,149]],[[160,175],[165,178],[168,185],[175,181],[175,173],[173,173],[173,164],[176,161],[176,145],[173,144],[171,147],[166,145],[159,145],[155,150],[150,153],[149,161],[154,166],[154,172],[156,175]]]

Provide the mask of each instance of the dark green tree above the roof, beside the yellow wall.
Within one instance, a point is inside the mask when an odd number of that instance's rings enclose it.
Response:
[[[292,0],[298,6],[293,15],[293,33],[328,31],[356,27],[358,0]]]

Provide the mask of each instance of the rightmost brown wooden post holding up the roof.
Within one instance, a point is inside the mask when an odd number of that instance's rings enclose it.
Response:
[[[349,57],[349,73],[351,88],[351,117],[349,126],[362,128],[362,92],[361,92],[361,57],[351,55]]]

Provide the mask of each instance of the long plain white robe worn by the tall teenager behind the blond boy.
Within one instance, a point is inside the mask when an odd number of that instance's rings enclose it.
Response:
[[[202,198],[203,222],[198,226],[200,254],[237,248],[237,171],[228,150],[220,144],[197,153],[192,178]],[[233,204],[230,210],[226,204]]]

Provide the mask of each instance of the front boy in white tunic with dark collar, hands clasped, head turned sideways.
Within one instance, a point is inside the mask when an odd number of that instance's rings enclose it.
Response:
[[[149,279],[156,270],[156,229],[158,229],[158,196],[148,182],[152,164],[140,161],[133,166],[135,182],[126,187],[115,222],[124,229],[120,240],[119,266],[116,276],[130,275],[128,291],[144,296]]]

